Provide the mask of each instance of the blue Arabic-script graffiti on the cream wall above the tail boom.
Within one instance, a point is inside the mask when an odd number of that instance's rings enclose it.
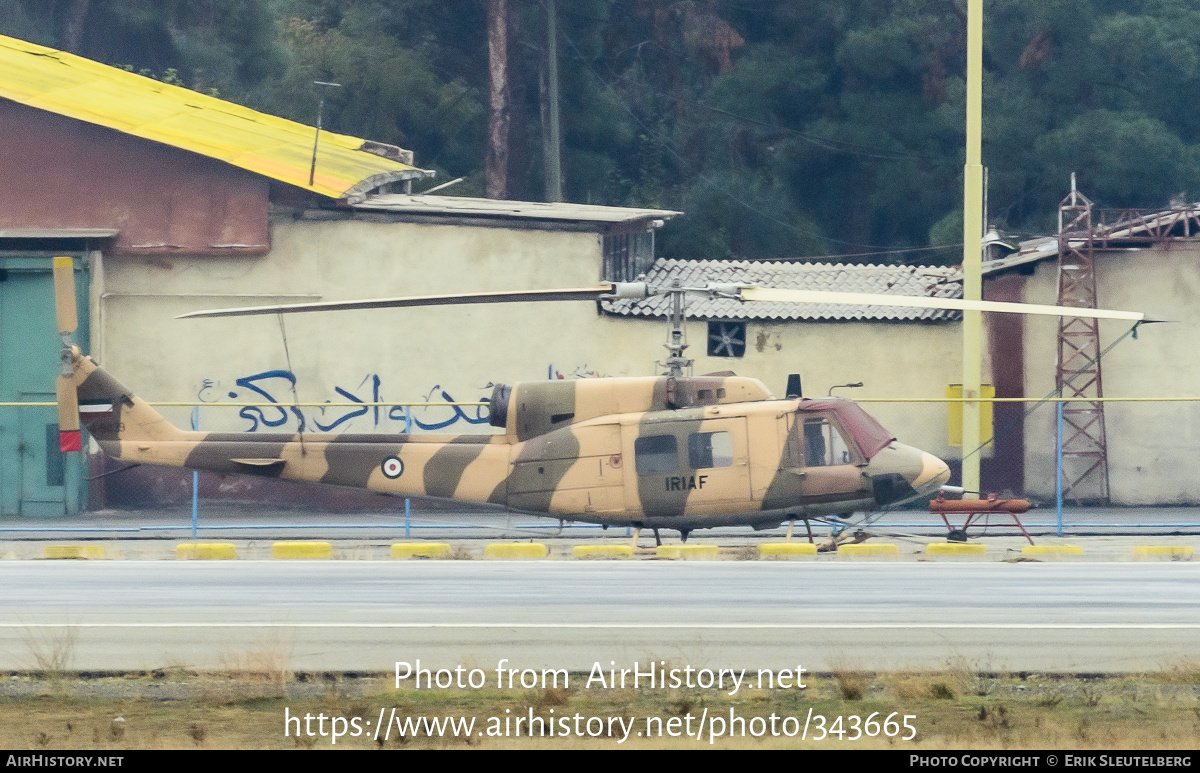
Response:
[[[383,380],[378,373],[362,378],[356,386],[334,386],[335,396],[326,406],[295,406],[296,376],[287,370],[272,370],[239,378],[233,389],[226,389],[221,382],[205,378],[197,393],[202,403],[217,403],[224,400],[239,402],[269,402],[270,406],[246,406],[238,415],[250,423],[247,432],[259,429],[296,432],[332,432],[349,429],[376,431],[386,427],[394,431],[445,430],[456,424],[487,424],[487,406],[456,406],[457,402],[440,384],[434,384],[420,400],[412,402],[445,402],[445,406],[372,406],[367,403],[386,402],[383,396]],[[480,388],[484,393],[467,402],[486,402],[491,396],[492,384]],[[341,405],[334,405],[341,403]],[[346,403],[360,403],[359,406]]]

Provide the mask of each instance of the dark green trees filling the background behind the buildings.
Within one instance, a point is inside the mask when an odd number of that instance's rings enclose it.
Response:
[[[413,149],[481,194],[485,0],[0,0],[0,32]],[[542,198],[539,0],[510,0],[510,197]],[[1002,229],[1195,198],[1194,0],[985,0]],[[665,257],[956,262],[965,0],[559,0],[568,200],[679,209]],[[946,246],[928,250],[930,246]]]

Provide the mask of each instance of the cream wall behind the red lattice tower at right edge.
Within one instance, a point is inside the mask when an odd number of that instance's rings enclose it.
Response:
[[[1028,302],[1052,304],[1057,269],[1037,265],[1026,284]],[[1097,256],[1100,306],[1142,311],[1176,320],[1144,325],[1103,360],[1106,397],[1200,396],[1200,245],[1170,250],[1132,250]],[[1100,347],[1128,325],[1100,323]],[[1026,395],[1054,391],[1057,324],[1031,319],[1026,338]],[[1109,483],[1115,504],[1194,504],[1200,502],[1200,402],[1108,403]],[[1026,423],[1026,486],[1052,501],[1055,471],[1054,407],[1039,408]]]

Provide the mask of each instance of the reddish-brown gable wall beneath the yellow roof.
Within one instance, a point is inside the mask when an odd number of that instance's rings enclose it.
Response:
[[[262,254],[268,180],[0,100],[0,228],[113,228],[112,252]]]

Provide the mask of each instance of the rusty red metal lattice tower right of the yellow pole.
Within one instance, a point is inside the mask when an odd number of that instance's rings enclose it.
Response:
[[[1097,308],[1092,203],[1075,190],[1058,204],[1058,305]],[[1058,318],[1058,361],[1055,385],[1063,403],[1063,496],[1078,504],[1109,502],[1109,453],[1104,433],[1100,377],[1100,328],[1096,319]]]

